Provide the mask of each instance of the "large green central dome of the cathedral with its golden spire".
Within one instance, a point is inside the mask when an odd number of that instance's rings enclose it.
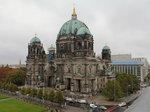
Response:
[[[82,21],[79,21],[76,13],[73,12],[72,19],[63,24],[58,37],[84,34],[91,35],[89,28]]]

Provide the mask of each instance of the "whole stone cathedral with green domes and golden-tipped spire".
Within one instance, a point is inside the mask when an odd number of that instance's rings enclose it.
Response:
[[[102,49],[96,57],[94,39],[86,24],[77,19],[75,8],[56,39],[45,53],[41,40],[35,36],[28,44],[26,86],[51,87],[72,92],[92,93],[109,80],[111,51]]]

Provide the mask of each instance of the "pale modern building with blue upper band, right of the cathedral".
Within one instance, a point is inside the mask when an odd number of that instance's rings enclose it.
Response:
[[[131,54],[112,55],[112,70],[125,72],[140,77],[141,81],[148,74],[149,63],[146,58],[132,58]]]

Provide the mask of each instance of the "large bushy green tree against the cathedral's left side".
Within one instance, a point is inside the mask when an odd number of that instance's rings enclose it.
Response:
[[[9,72],[6,78],[7,83],[13,83],[18,86],[24,85],[25,83],[25,72],[22,70],[12,70]]]

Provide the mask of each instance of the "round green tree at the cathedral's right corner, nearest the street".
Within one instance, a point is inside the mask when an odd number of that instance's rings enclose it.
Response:
[[[118,98],[123,97],[123,91],[120,87],[120,83],[116,80],[108,81],[102,89],[102,94],[109,100],[117,100]]]

